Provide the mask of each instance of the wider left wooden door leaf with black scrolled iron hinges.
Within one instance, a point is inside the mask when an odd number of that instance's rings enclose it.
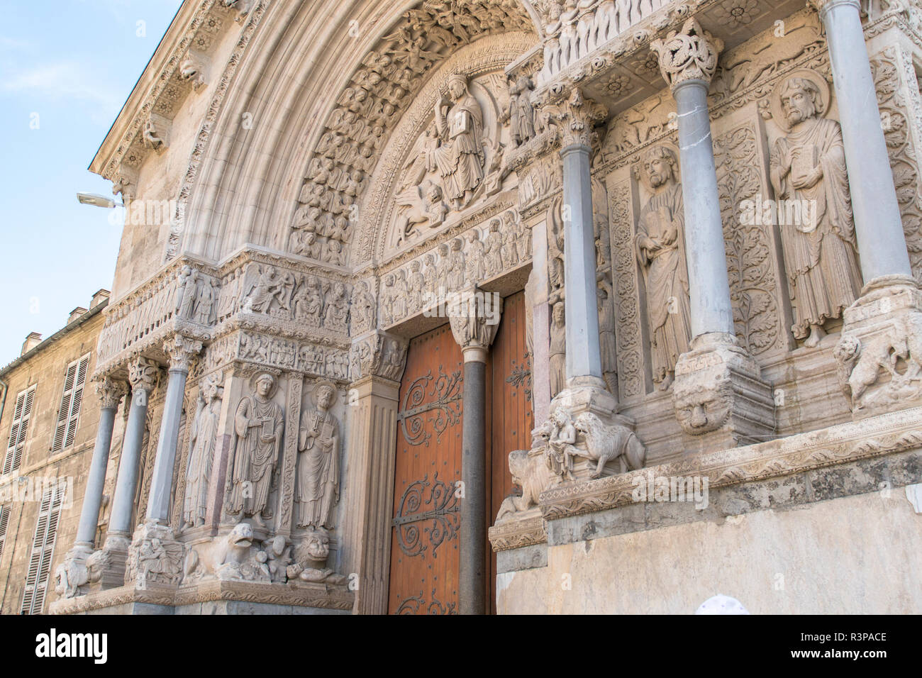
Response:
[[[457,613],[463,370],[448,325],[410,341],[397,412],[392,614]]]

